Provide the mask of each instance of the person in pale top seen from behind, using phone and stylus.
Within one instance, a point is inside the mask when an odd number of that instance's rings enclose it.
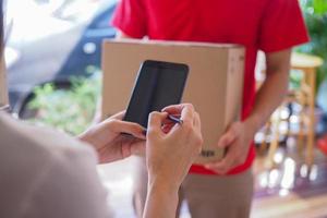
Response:
[[[0,16],[3,26],[2,0]],[[2,39],[1,27],[0,57]],[[3,84],[0,80],[0,92]],[[5,108],[1,97],[0,108]],[[161,124],[168,113],[181,113],[183,123],[166,134]],[[145,137],[142,126],[121,121],[123,114],[72,138],[0,111],[0,217],[108,218],[106,192],[96,172],[98,159],[111,162],[145,149],[149,192],[144,217],[173,218],[179,186],[201,150],[199,117],[189,104],[153,112]],[[135,138],[124,140],[121,132]]]

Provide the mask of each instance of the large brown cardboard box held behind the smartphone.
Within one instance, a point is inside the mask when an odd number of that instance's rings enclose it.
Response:
[[[244,48],[238,45],[202,43],[106,40],[102,47],[102,117],[128,107],[141,63],[159,60],[185,63],[190,73],[183,102],[192,102],[199,112],[204,149],[197,164],[218,160],[219,136],[239,119]]]

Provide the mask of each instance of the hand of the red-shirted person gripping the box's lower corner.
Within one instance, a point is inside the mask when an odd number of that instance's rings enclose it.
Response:
[[[226,174],[234,167],[244,164],[254,134],[255,130],[246,121],[232,123],[219,138],[217,145],[226,149],[225,157],[220,161],[207,164],[205,167],[219,174]]]

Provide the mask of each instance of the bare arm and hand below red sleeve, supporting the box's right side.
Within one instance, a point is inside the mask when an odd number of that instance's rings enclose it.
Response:
[[[267,77],[256,94],[252,113],[243,122],[234,122],[220,137],[218,146],[228,148],[220,161],[206,165],[218,173],[244,164],[255,133],[280,105],[288,90],[291,49],[266,53]]]

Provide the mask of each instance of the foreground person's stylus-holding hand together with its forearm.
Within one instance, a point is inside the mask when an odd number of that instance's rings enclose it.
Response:
[[[164,111],[150,113],[148,122],[145,218],[175,217],[179,187],[203,144],[199,117],[192,105],[172,106]],[[165,130],[168,113],[181,114],[183,123]]]

